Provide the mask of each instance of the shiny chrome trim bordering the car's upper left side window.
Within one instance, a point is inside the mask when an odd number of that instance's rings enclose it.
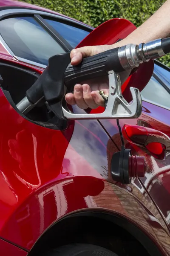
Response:
[[[67,17],[63,17],[63,16],[60,16],[60,15],[57,15],[57,14],[53,14],[53,13],[50,13],[50,12],[43,12],[43,11],[40,11],[40,10],[35,10],[35,9],[6,9],[6,10],[0,10],[0,20],[3,18],[3,17],[6,17],[8,18],[8,16],[10,15],[44,15],[44,16],[48,16],[48,17],[54,17],[58,20],[63,20],[63,21],[68,21],[69,23],[73,23],[75,25],[78,25],[78,26],[82,26],[86,29],[91,29],[93,30],[93,28],[91,28],[90,26],[86,25],[86,24],[80,24],[79,22],[77,22],[76,20],[71,20]],[[15,56],[14,52],[11,50],[10,47],[8,47],[8,44],[6,44],[6,41],[4,41],[2,35],[0,34],[0,43],[3,45],[3,47],[7,50],[7,52],[13,57],[13,58],[16,58],[18,59],[18,61],[23,61],[23,62],[26,62],[28,64],[32,64],[34,66],[37,66],[37,67],[42,67],[42,68],[45,68],[46,66],[45,65],[42,65],[42,64],[39,64],[37,62],[34,62],[34,61],[29,61],[27,59],[24,59],[24,58],[20,58],[18,56]]]

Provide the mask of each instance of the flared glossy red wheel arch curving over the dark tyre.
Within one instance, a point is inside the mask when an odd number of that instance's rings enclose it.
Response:
[[[91,184],[93,189],[87,189],[85,181]],[[89,176],[54,180],[52,184],[44,186],[17,207],[2,234],[8,236],[12,242],[17,241],[17,244],[23,244],[25,248],[31,249],[43,230],[45,232],[56,221],[62,221],[63,217],[74,213],[98,210],[109,212],[135,224],[155,242],[163,255],[170,255],[169,234],[161,216],[150,197],[139,192],[138,186],[141,187],[141,184],[136,182],[136,186],[131,184],[122,189]],[[11,224],[14,231],[11,230]]]

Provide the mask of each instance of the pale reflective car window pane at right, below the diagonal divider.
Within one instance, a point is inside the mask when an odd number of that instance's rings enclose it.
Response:
[[[141,92],[142,100],[170,108],[170,93],[153,76]]]

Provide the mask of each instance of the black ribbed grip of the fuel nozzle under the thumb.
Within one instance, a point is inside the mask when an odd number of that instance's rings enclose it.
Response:
[[[77,66],[69,64],[65,70],[64,78],[68,90],[72,89],[73,85],[82,81],[105,76],[110,70],[118,73],[124,71],[119,61],[118,50],[119,47],[84,58]]]

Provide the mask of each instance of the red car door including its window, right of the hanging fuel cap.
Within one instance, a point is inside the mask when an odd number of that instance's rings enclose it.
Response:
[[[121,128],[125,124],[140,125],[161,131],[170,137],[170,69],[155,61],[154,72],[146,87],[142,90],[142,114],[138,119],[120,119]],[[121,147],[119,130],[116,120],[100,120],[109,132],[114,143]],[[147,148],[134,145],[125,140],[126,148],[132,150],[133,155],[145,156],[147,172],[140,178],[143,194],[148,193],[167,224],[170,227],[170,152],[166,152],[164,160],[156,159]],[[132,180],[136,184],[136,179]],[[137,185],[135,185],[137,186]]]

